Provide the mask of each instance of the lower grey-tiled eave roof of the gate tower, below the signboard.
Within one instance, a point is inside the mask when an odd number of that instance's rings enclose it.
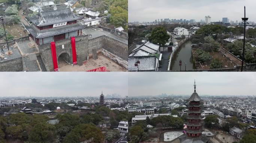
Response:
[[[34,25],[30,25],[30,26],[25,25],[25,28],[35,38],[46,38],[49,36],[54,36],[54,35],[59,35],[59,34],[67,33],[67,32],[84,29],[84,28],[86,28],[86,25],[80,25],[80,24],[76,23],[76,24],[65,25],[65,26],[60,26],[60,27],[45,29],[45,30],[39,30]]]

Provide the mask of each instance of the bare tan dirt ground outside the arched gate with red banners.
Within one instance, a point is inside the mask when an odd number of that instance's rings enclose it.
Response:
[[[87,60],[82,66],[62,64],[60,67],[60,71],[87,71],[96,69],[98,67],[106,67],[109,71],[127,71],[127,69],[125,69],[122,66],[119,66],[114,61],[110,60],[102,54],[98,54],[97,60],[91,58]]]

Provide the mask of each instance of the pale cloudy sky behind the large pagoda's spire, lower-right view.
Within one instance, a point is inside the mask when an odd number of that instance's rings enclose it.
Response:
[[[129,72],[129,96],[256,95],[256,72]]]

